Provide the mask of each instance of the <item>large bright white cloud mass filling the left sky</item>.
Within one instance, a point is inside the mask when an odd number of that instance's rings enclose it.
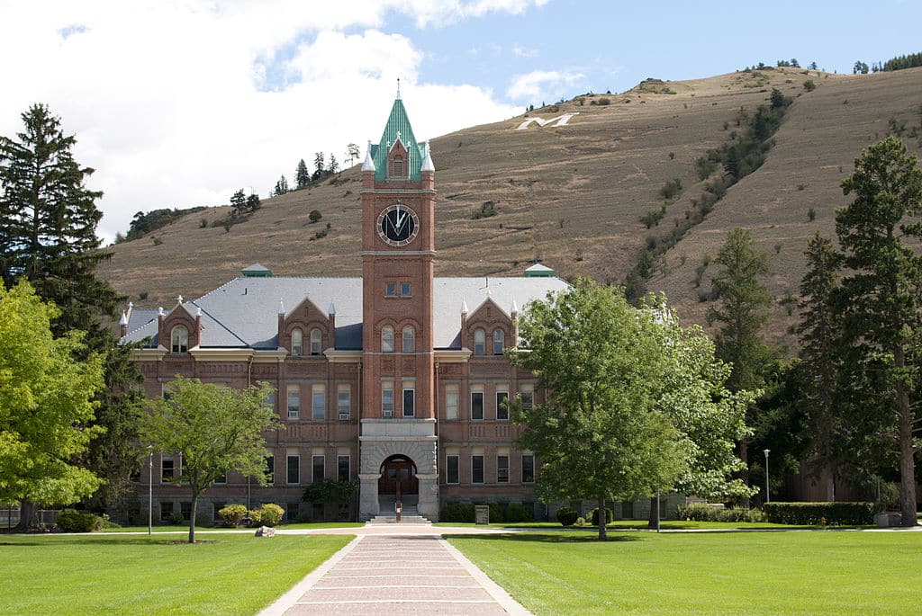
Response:
[[[301,157],[341,161],[380,136],[397,77],[420,139],[513,115],[489,89],[420,83],[423,53],[384,17],[437,24],[544,1],[3,4],[0,134],[48,103],[97,169],[111,239],[137,211],[227,203],[242,186],[265,196]]]

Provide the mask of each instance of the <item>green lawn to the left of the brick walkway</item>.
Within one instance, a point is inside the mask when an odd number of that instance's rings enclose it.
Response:
[[[253,614],[345,535],[0,535],[5,614]]]

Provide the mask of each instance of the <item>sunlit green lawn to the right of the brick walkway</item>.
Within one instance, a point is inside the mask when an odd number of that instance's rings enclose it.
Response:
[[[536,614],[918,613],[922,533],[534,531],[449,540]]]

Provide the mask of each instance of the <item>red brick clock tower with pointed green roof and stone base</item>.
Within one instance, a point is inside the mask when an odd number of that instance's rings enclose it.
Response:
[[[432,276],[435,169],[399,92],[361,168],[361,515],[438,515]],[[434,518],[434,517],[433,517]]]

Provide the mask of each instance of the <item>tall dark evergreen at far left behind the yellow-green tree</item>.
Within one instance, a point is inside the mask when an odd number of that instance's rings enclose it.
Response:
[[[55,337],[84,331],[76,361],[99,354],[105,382],[112,389],[96,396],[99,406],[93,429],[102,435],[85,454],[83,464],[109,480],[97,495],[107,508],[136,471],[138,452],[125,444],[136,436],[136,389],[141,375],[129,362],[127,349],[116,349],[112,331],[100,317],[114,320],[124,297],[96,277],[96,267],[111,253],[98,250],[96,225],[101,213],[85,181],[93,169],[80,167],[71,154],[74,135],[65,135],[60,119],[45,105],[22,114],[25,130],[16,139],[0,137],[0,275],[8,287],[27,279],[42,301],[53,302],[59,314],[52,320]],[[93,451],[105,451],[95,455]],[[23,502],[23,509],[29,507]]]

